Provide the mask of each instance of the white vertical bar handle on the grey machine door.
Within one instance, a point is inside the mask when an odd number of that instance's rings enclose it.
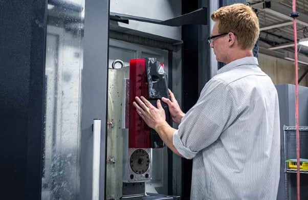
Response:
[[[92,200],[99,200],[101,120],[93,120]]]

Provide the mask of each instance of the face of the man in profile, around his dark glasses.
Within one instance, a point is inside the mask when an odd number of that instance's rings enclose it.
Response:
[[[218,24],[219,21],[216,21],[212,29],[211,36],[221,34],[218,32]],[[227,35],[216,37],[214,38],[214,41],[210,44],[210,47],[213,48],[216,60],[218,62],[225,62],[226,60],[226,36]]]

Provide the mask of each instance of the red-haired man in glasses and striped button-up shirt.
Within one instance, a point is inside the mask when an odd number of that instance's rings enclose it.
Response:
[[[258,18],[243,4],[222,7],[211,18],[210,47],[226,65],[186,114],[171,91],[170,100],[162,99],[179,129],[166,123],[159,100],[156,108],[136,97],[134,106],[174,153],[193,159],[191,199],[274,200],[280,169],[278,96],[253,57]]]

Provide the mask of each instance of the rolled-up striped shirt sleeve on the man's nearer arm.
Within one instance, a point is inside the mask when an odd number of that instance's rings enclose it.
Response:
[[[237,116],[232,90],[221,79],[210,80],[183,117],[172,142],[186,159],[214,143]]]

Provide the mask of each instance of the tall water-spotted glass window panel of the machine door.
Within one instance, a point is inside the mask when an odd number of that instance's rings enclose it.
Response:
[[[42,200],[77,199],[84,0],[48,4]]]

